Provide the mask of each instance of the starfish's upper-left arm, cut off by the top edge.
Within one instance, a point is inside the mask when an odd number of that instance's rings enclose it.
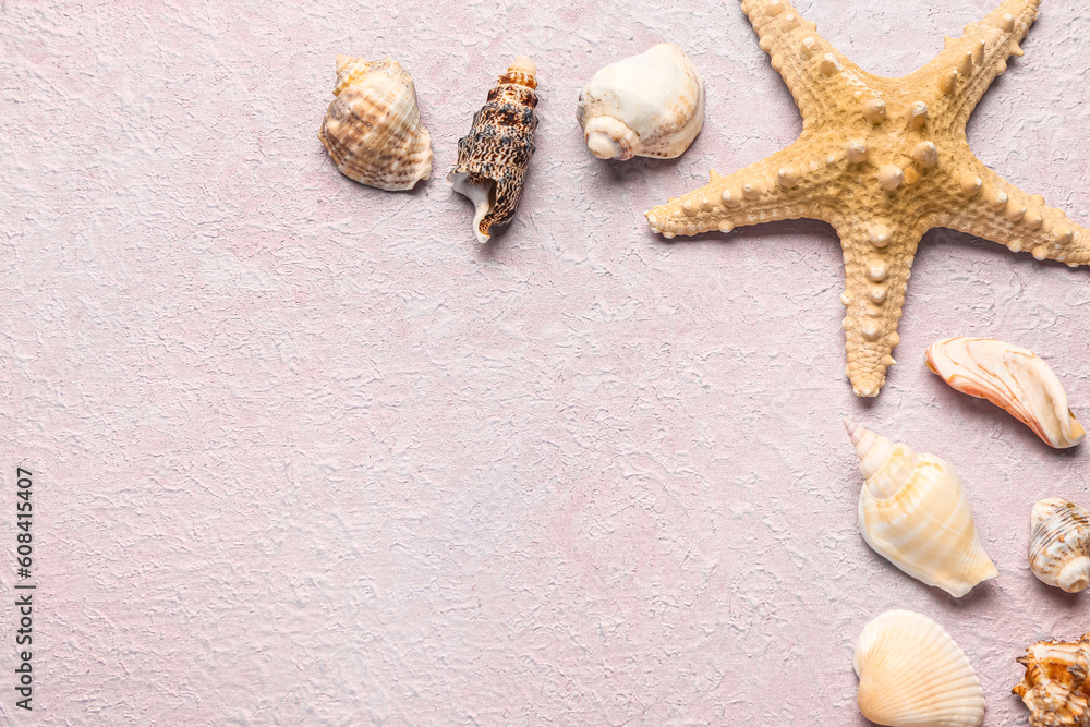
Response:
[[[787,0],[742,0],[772,68],[783,76],[795,104],[809,126],[821,114],[827,99],[844,88],[845,76],[870,77],[827,40],[818,26],[803,20]]]

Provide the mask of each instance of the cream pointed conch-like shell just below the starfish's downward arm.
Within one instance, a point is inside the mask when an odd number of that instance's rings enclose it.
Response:
[[[969,500],[950,467],[844,421],[867,484],[859,493],[863,540],[897,568],[960,598],[998,575]]]

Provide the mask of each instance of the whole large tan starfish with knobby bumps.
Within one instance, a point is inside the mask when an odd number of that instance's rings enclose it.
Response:
[[[862,71],[785,0],[743,0],[772,66],[802,112],[787,148],[646,213],[667,238],[809,217],[840,237],[848,378],[877,396],[895,362],[897,322],[917,245],[948,227],[1051,258],[1090,264],[1090,231],[1003,180],[969,149],[965,126],[992,81],[1020,56],[1040,0],[1006,0],[946,38],[915,73]]]

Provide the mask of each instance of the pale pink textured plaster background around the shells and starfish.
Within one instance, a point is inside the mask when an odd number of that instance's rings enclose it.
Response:
[[[798,7],[900,75],[994,1]],[[800,130],[736,0],[432,5],[0,2],[0,581],[29,463],[40,583],[40,711],[13,708],[9,607],[0,714],[862,725],[852,643],[911,608],[970,655],[985,724],[1020,724],[1014,657],[1090,627],[1090,596],[1025,558],[1033,501],[1090,505],[1087,453],[945,388],[923,350],[1032,348],[1090,414],[1087,269],[932,232],[900,364],[857,400],[831,228],[670,244],[640,214]],[[702,135],[593,159],[580,87],[659,40],[704,74]],[[1088,226],[1081,0],[1045,0],[1025,48],[970,142]],[[340,52],[415,77],[416,191],[347,180],[316,140]],[[541,68],[537,155],[482,250],[444,177],[516,53]],[[955,601],[868,549],[845,413],[954,464],[998,580]]]

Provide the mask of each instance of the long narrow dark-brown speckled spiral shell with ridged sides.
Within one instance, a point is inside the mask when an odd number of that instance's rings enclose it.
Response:
[[[473,232],[482,244],[492,228],[507,225],[522,196],[537,129],[537,66],[519,56],[488,92],[468,136],[458,141],[458,163],[447,174],[455,192],[473,203]]]

